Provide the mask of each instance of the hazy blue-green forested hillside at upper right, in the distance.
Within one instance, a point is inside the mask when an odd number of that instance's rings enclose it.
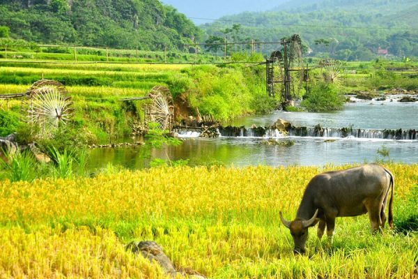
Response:
[[[289,1],[262,13],[240,13],[203,25],[208,36],[234,40],[277,41],[299,33],[314,56],[370,60],[378,48],[394,56],[418,56],[416,0]],[[244,35],[245,34],[245,35]],[[240,36],[237,36],[240,35]],[[212,37],[212,40],[213,37]],[[263,47],[268,53],[275,45]]]

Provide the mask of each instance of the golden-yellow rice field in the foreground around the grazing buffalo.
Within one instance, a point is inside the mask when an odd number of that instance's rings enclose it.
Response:
[[[396,221],[418,165],[387,167]],[[279,211],[292,218],[304,186],[327,169],[163,167],[0,181],[0,278],[164,278],[125,251],[134,239],[157,241],[176,266],[209,278],[418,278],[417,232],[371,236],[366,215],[337,219],[331,248],[311,229],[307,254],[293,255]]]

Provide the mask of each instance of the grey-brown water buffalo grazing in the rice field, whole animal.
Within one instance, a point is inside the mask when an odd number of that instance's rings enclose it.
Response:
[[[295,220],[284,219],[280,212],[281,222],[291,230],[295,242],[293,251],[304,253],[308,228],[318,222],[318,238],[322,238],[327,227],[328,241],[331,243],[336,217],[369,213],[372,232],[385,227],[385,208],[391,186],[389,226],[392,228],[394,176],[389,170],[380,165],[368,164],[317,174],[304,190]]]

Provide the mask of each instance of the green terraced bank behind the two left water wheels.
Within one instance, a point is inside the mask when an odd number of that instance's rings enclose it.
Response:
[[[89,144],[128,137],[132,122],[143,121],[144,102],[120,99],[144,96],[156,85],[167,86],[173,97],[183,94],[192,108],[219,121],[274,107],[265,96],[262,68],[241,66],[0,61],[0,94],[24,92],[42,77],[66,86],[75,107],[71,128],[84,130]],[[18,119],[20,100],[11,100],[8,112]]]

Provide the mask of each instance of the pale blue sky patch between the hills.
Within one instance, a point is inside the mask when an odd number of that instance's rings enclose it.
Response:
[[[233,15],[245,11],[271,10],[279,6],[284,0],[162,0],[187,17],[201,17],[217,19],[223,15]],[[207,20],[193,20],[196,24],[203,24]]]

